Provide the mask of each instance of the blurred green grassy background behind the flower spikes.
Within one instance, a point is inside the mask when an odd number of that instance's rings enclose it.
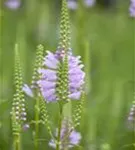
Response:
[[[59,0],[23,0],[21,7],[0,8],[0,150],[12,149],[10,110],[14,92],[14,44],[19,44],[24,82],[30,83],[36,46],[55,51],[59,36]],[[133,150],[135,137],[127,117],[133,101],[135,20],[128,14],[129,1],[116,7],[86,8],[79,3],[70,11],[73,53],[86,64],[88,93],[81,127],[80,150]],[[29,118],[32,100],[27,99]],[[50,107],[56,126],[54,106]],[[23,149],[33,149],[31,127],[23,133]],[[41,150],[48,134],[41,127]]]

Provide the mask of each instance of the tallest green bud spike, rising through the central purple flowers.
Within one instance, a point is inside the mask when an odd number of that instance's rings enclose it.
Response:
[[[67,2],[66,0],[62,0],[59,48],[61,50],[61,54],[63,53],[64,57],[61,58],[59,64],[59,68],[57,71],[58,79],[56,84],[57,98],[61,103],[69,101],[68,54],[67,54],[70,48],[69,23],[70,21]]]

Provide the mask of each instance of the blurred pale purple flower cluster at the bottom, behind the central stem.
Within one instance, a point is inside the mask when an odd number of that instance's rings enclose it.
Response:
[[[57,137],[58,130],[56,130],[55,136]],[[64,119],[62,122],[62,129],[61,129],[61,135],[60,135],[60,149],[66,148],[72,148],[80,143],[81,140],[81,134],[77,131],[75,131],[69,122],[68,119]],[[56,148],[56,143],[54,139],[51,139],[49,142],[49,146]]]

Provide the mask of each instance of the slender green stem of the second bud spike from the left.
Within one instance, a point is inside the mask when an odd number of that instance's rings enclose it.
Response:
[[[37,98],[35,104],[35,137],[34,137],[35,150],[39,149],[38,136],[39,136],[39,99]]]

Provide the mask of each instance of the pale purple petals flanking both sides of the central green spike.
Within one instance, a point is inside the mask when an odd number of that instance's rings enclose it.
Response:
[[[44,58],[43,67],[38,70],[41,78],[37,84],[41,90],[44,99],[47,102],[59,100],[56,93],[57,88],[57,71],[60,63],[64,60],[65,52],[56,51],[51,53],[47,51],[47,56]],[[82,71],[84,67],[81,64],[80,56],[73,56],[68,53],[68,80],[69,80],[69,95],[70,99],[78,100],[81,97],[81,90],[84,85],[85,73]],[[63,91],[61,91],[63,92]]]

